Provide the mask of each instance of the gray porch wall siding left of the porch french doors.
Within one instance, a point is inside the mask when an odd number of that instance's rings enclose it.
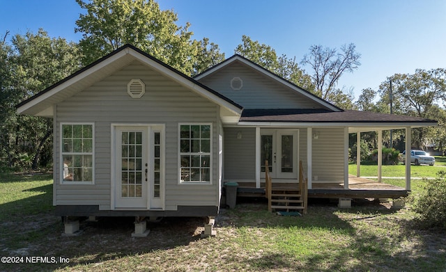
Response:
[[[242,138],[238,139],[240,132]],[[224,179],[256,179],[256,129],[224,129]]]

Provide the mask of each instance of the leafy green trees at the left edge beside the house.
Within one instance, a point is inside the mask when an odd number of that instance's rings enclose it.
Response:
[[[43,164],[52,158],[52,120],[17,115],[15,105],[79,69],[79,51],[42,29],[15,35],[11,45],[3,42],[1,48],[0,66],[8,68],[8,79],[1,83],[1,160],[9,167],[37,168],[43,155]]]

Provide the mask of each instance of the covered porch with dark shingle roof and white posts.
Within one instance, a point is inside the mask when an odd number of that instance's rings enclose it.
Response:
[[[226,180],[238,182],[239,196],[259,196],[265,195],[265,164],[263,161],[273,161],[272,168],[272,189],[281,189],[298,186],[298,175],[292,170],[293,176],[286,177],[282,172],[296,169],[302,171],[307,181],[308,198],[392,198],[398,199],[407,196],[410,192],[410,164],[406,164],[406,184],[404,188],[385,184],[382,182],[382,147],[383,131],[391,129],[404,129],[406,132],[405,140],[406,150],[411,149],[411,130],[417,127],[429,127],[437,125],[434,120],[423,118],[413,118],[403,115],[390,115],[382,113],[370,113],[362,111],[311,111],[301,112],[294,110],[282,111],[253,111],[244,112],[238,125],[234,127],[229,137],[234,140],[230,144],[236,144],[240,141],[238,148],[234,150],[231,160],[228,160],[226,166],[245,166],[242,161],[240,150],[243,147],[249,147],[254,151],[251,157],[243,157],[243,161],[252,161],[254,171],[251,180],[238,179],[240,173],[245,173],[247,168],[238,168],[237,175],[227,175]],[[242,142],[245,139],[247,131],[250,129],[251,136],[249,141]],[[236,130],[240,129],[236,133]],[[270,132],[274,131],[274,132]],[[292,132],[295,131],[294,136]],[[367,131],[377,131],[378,133],[378,177],[377,181],[364,179],[360,176],[360,149],[357,152],[357,175],[351,176],[348,173],[348,139],[349,134],[356,134],[357,141],[360,142],[361,133]],[[272,136],[268,136],[272,134]],[[235,136],[236,135],[236,136]],[[249,135],[249,134],[247,134]],[[268,138],[269,137],[269,138]],[[284,145],[280,141],[286,138],[293,138],[293,145]],[[274,139],[277,139],[275,141]],[[238,139],[238,140],[236,140]],[[267,141],[272,139],[272,141]],[[272,142],[271,149],[266,148],[266,144]],[[291,141],[288,141],[291,143]],[[242,144],[243,143],[243,144]],[[284,146],[289,146],[284,152]],[[291,151],[288,151],[291,150]],[[402,151],[402,150],[401,150]],[[227,153],[226,153],[227,154]],[[268,154],[268,155],[265,155]],[[288,156],[284,159],[284,154],[293,154],[293,165],[289,168],[284,161],[290,161]],[[254,155],[254,156],[252,156]],[[410,161],[410,154],[406,152],[406,161]],[[255,161],[253,160],[255,158]],[[296,160],[297,159],[297,160]],[[236,163],[233,163],[237,161]],[[302,161],[297,166],[297,161]],[[233,164],[231,164],[233,163]],[[282,163],[282,165],[280,164]],[[289,163],[291,165],[291,163]],[[275,167],[274,167],[275,166]],[[232,174],[232,173],[231,173]]]

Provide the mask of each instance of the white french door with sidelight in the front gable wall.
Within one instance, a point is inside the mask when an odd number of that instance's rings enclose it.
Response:
[[[114,127],[114,207],[162,209],[164,127]]]

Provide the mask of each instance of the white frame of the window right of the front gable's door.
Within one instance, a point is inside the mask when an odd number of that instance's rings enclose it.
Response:
[[[181,126],[200,126],[200,131],[201,131],[201,126],[209,126],[210,127],[210,135],[209,135],[209,152],[181,152]],[[190,138],[191,139],[191,138]],[[195,138],[197,139],[197,138]],[[203,139],[201,138],[200,135],[200,140]],[[206,122],[199,122],[199,123],[195,123],[195,122],[183,122],[183,123],[178,123],[178,184],[201,184],[201,185],[210,185],[213,184],[212,179],[213,179],[213,123],[206,123]],[[197,155],[204,155],[204,156],[209,156],[209,180],[208,181],[185,181],[181,179],[181,156],[197,156]],[[201,164],[201,163],[200,163]],[[190,166],[191,168],[191,166]],[[201,166],[199,167],[200,169]]]

